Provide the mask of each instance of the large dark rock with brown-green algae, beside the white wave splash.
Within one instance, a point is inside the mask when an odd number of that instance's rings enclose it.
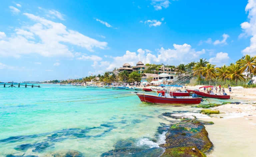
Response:
[[[176,123],[165,135],[166,143],[160,145],[163,148],[196,146],[202,152],[207,152],[213,146],[205,126],[200,122]]]

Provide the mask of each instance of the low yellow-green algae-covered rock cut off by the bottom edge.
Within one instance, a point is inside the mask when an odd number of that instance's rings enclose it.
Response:
[[[197,147],[191,146],[166,149],[161,157],[206,157],[206,155]]]

